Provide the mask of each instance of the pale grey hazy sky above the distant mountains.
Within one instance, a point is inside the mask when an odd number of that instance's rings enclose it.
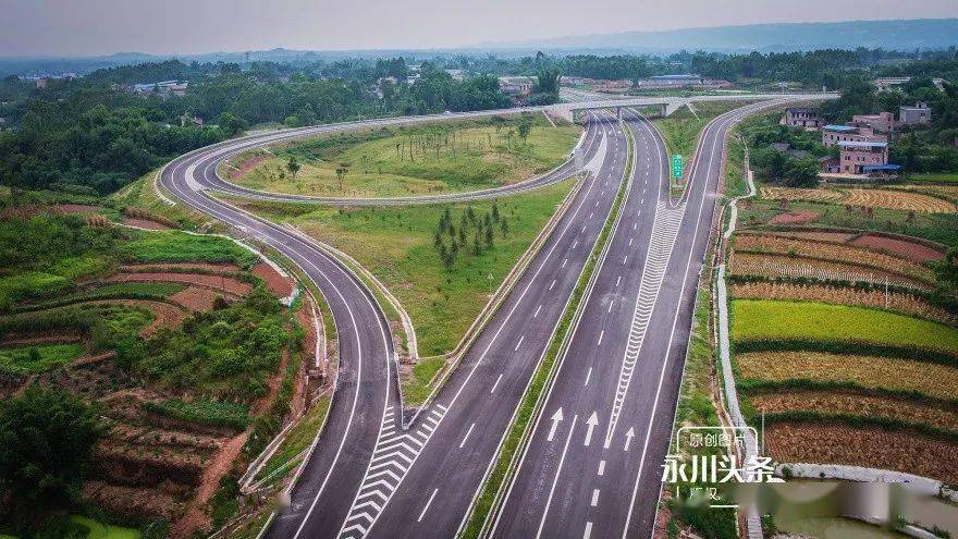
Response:
[[[72,57],[456,48],[729,24],[941,19],[958,16],[958,0],[0,0],[0,57]]]

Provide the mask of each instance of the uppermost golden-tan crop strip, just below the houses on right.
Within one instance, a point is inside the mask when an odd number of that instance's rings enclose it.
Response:
[[[813,203],[844,204],[867,208],[886,208],[925,213],[955,213],[955,204],[931,195],[901,189],[872,188],[795,188],[762,186],[763,198],[772,200],[807,200]]]

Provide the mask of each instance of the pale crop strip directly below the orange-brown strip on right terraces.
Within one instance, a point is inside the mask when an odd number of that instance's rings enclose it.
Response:
[[[891,271],[858,266],[855,264],[831,262],[815,258],[783,257],[752,253],[734,253],[729,260],[730,272],[737,275],[798,277],[823,281],[849,281],[873,284],[894,284],[916,290],[930,291],[932,285],[925,281],[909,279]]]

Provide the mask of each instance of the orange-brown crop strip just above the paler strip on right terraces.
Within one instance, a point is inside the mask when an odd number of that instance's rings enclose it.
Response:
[[[774,235],[740,234],[736,236],[735,249],[738,252],[775,253],[788,257],[805,256],[869,266],[926,282],[934,282],[935,279],[934,272],[920,264],[850,245],[791,240]]]

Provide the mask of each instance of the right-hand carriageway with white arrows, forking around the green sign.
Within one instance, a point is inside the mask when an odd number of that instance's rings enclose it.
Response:
[[[493,537],[651,537],[725,134],[763,107],[734,110],[704,128],[677,204],[665,145],[649,124],[630,124],[646,150],[625,216]]]

